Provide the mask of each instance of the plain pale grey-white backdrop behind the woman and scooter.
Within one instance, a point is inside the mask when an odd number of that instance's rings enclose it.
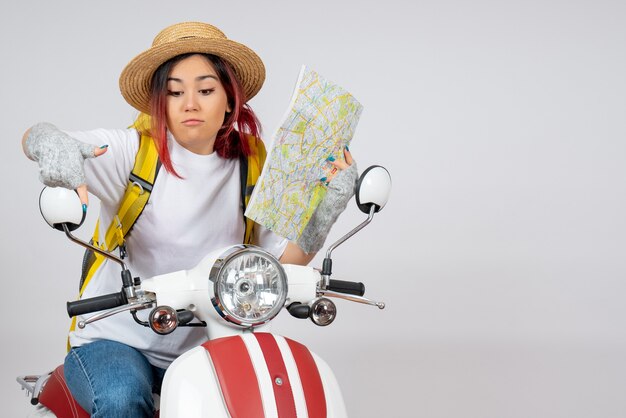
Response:
[[[365,106],[351,150],[394,190],[335,273],[388,308],[276,324],[331,364],[351,416],[626,416],[619,0],[5,2],[0,415],[29,410],[16,375],[62,361],[82,254],[40,218],[21,135],[128,125],[120,71],[182,20],[264,59],[252,105],[266,137],[303,63]],[[350,208],[332,236],[361,219]]]

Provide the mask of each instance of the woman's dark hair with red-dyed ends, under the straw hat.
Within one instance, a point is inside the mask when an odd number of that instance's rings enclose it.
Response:
[[[222,58],[211,54],[189,53],[169,59],[157,68],[152,76],[150,108],[152,116],[151,135],[159,151],[159,158],[163,167],[180,177],[172,166],[172,160],[167,149],[167,78],[174,65],[192,55],[202,55],[209,60],[226,91],[228,104],[232,111],[227,113],[224,125],[218,131],[213,149],[223,158],[238,158],[250,154],[250,146],[246,136],[260,138],[261,124],[256,115],[248,106],[241,84],[235,71]]]

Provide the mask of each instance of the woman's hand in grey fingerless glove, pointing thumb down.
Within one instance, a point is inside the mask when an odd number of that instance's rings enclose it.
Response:
[[[39,164],[39,179],[50,187],[75,189],[87,208],[84,162],[104,154],[108,145],[94,147],[78,141],[50,123],[38,123],[24,134],[24,153]]]

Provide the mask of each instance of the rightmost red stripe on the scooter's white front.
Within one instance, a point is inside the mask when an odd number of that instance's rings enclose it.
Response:
[[[291,354],[293,354],[293,358],[298,366],[298,374],[302,382],[309,418],[325,418],[326,396],[324,396],[324,384],[317,369],[317,364],[315,364],[315,359],[304,345],[289,338],[285,338],[285,340],[289,344]]]

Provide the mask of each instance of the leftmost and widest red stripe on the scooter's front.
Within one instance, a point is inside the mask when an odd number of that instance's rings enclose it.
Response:
[[[202,346],[211,356],[230,416],[265,416],[257,376],[243,340],[238,336],[218,338]]]

